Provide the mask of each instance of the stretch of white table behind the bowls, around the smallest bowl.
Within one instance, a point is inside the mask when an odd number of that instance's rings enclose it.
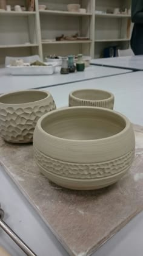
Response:
[[[68,105],[70,91],[82,88],[97,88],[115,94],[115,110],[126,115],[132,123],[143,126],[143,72],[122,74],[102,79],[82,81],[69,85],[47,88],[52,93],[57,107]]]

